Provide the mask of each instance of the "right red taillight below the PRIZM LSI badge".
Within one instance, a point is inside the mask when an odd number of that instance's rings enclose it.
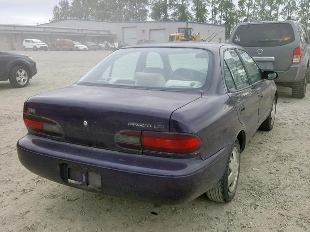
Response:
[[[193,154],[202,147],[202,141],[196,135],[154,131],[121,131],[115,142],[127,149],[172,154]]]

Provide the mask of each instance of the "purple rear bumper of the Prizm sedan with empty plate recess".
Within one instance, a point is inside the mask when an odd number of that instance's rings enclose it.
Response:
[[[224,174],[231,145],[206,160],[126,154],[26,135],[17,142],[20,162],[32,173],[75,188],[155,204],[189,202]],[[93,170],[101,189],[68,182],[67,167]]]

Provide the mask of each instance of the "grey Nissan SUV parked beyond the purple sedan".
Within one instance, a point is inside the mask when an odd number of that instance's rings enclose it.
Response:
[[[276,71],[276,84],[292,88],[294,98],[304,98],[310,80],[310,38],[304,25],[294,20],[244,21],[229,43],[244,47],[262,70]]]

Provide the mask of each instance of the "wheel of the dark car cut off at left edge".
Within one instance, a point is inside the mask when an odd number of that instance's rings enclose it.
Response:
[[[25,72],[25,73],[23,73]],[[22,78],[21,78],[22,74]],[[9,81],[13,87],[22,88],[26,87],[29,84],[30,74],[26,68],[23,66],[14,66],[11,69]]]

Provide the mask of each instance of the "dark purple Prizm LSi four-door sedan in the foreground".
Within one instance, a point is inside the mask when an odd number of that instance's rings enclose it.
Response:
[[[273,128],[276,77],[230,44],[124,47],[76,84],[25,102],[18,157],[35,174],[97,193],[174,204],[206,192],[229,202],[240,153],[258,128]]]

